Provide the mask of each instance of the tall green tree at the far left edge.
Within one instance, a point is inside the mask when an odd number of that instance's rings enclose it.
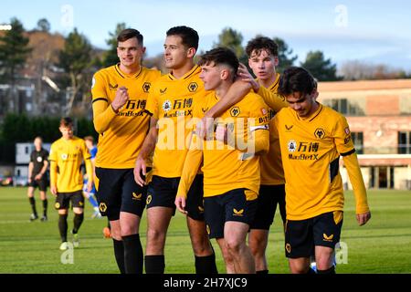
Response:
[[[10,21],[11,30],[0,36],[0,76],[3,82],[10,84],[9,100],[14,100],[14,109],[17,110],[18,94],[16,92],[16,79],[18,73],[26,63],[26,58],[31,52],[28,47],[28,37],[25,36],[25,28],[17,19]]]

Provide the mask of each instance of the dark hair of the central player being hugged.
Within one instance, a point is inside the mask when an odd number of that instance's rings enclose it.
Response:
[[[236,53],[234,53],[231,49],[227,47],[213,48],[201,56],[198,65],[203,66],[209,65],[210,63],[214,63],[215,66],[228,66],[232,71],[233,80],[236,78],[239,62]]]

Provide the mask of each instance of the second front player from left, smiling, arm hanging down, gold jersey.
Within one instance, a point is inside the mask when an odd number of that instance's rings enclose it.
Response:
[[[146,181],[146,162],[153,155],[153,180],[147,193],[147,244],[145,272],[164,272],[164,245],[167,228],[175,213],[174,199],[186,155],[185,137],[191,132],[186,122],[192,118],[197,99],[205,95],[199,78],[200,68],[194,57],[198,47],[197,32],[187,26],[175,26],[166,33],[164,59],[170,74],[164,75],[150,92],[146,110],[151,128],[135,163],[135,180]],[[157,139],[158,137],[158,139]],[[142,173],[141,173],[142,172]],[[197,274],[216,274],[216,259],[205,231],[203,210],[203,175],[197,175],[187,204],[187,226],[195,254]]]

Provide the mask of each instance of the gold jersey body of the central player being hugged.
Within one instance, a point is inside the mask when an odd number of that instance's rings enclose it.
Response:
[[[201,115],[201,112],[211,109],[217,101],[215,93],[210,93],[195,112]],[[249,146],[247,141],[250,130],[267,131],[265,139],[269,140],[268,106],[257,94],[248,93],[244,99],[224,112],[216,123],[224,123],[228,131],[244,132],[244,137],[242,141],[236,141],[236,147],[215,139],[203,141],[205,197],[245,188],[252,191],[248,193],[248,200],[256,199],[260,183],[259,156],[237,148],[241,145]]]

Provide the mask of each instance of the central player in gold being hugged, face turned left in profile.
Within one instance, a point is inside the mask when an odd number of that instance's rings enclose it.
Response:
[[[217,47],[201,57],[201,78],[211,91],[195,104],[194,115],[227,94],[233,84],[238,59],[228,48]],[[184,212],[188,187],[200,168],[204,172],[205,222],[210,238],[216,238],[226,262],[227,273],[254,273],[255,264],[246,244],[249,224],[257,209],[260,182],[258,152],[269,150],[268,107],[255,93],[221,115],[216,134],[200,141],[200,149],[188,151],[175,204]],[[199,141],[196,135],[194,141]]]

